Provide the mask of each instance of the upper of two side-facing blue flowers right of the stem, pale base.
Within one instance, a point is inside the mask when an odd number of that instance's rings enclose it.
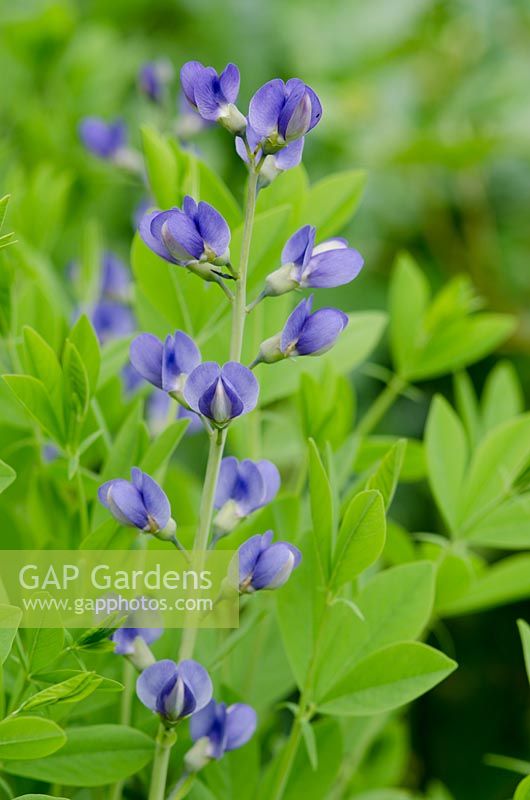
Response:
[[[327,289],[357,277],[363,258],[346,239],[326,239],[315,245],[316,228],[304,225],[293,233],[282,251],[282,266],[267,276],[262,297],[301,287]]]

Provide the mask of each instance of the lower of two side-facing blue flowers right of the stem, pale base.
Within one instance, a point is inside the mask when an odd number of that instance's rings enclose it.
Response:
[[[320,308],[311,313],[312,307],[313,296],[302,300],[283,330],[261,343],[252,366],[294,356],[319,356],[330,350],[348,324],[348,315],[338,308]]]

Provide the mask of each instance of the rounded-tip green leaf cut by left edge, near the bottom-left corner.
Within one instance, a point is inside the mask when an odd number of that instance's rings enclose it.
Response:
[[[0,759],[40,759],[66,742],[64,732],[49,719],[18,717],[0,722]],[[20,764],[27,762],[20,760]],[[6,772],[9,767],[4,765]]]

